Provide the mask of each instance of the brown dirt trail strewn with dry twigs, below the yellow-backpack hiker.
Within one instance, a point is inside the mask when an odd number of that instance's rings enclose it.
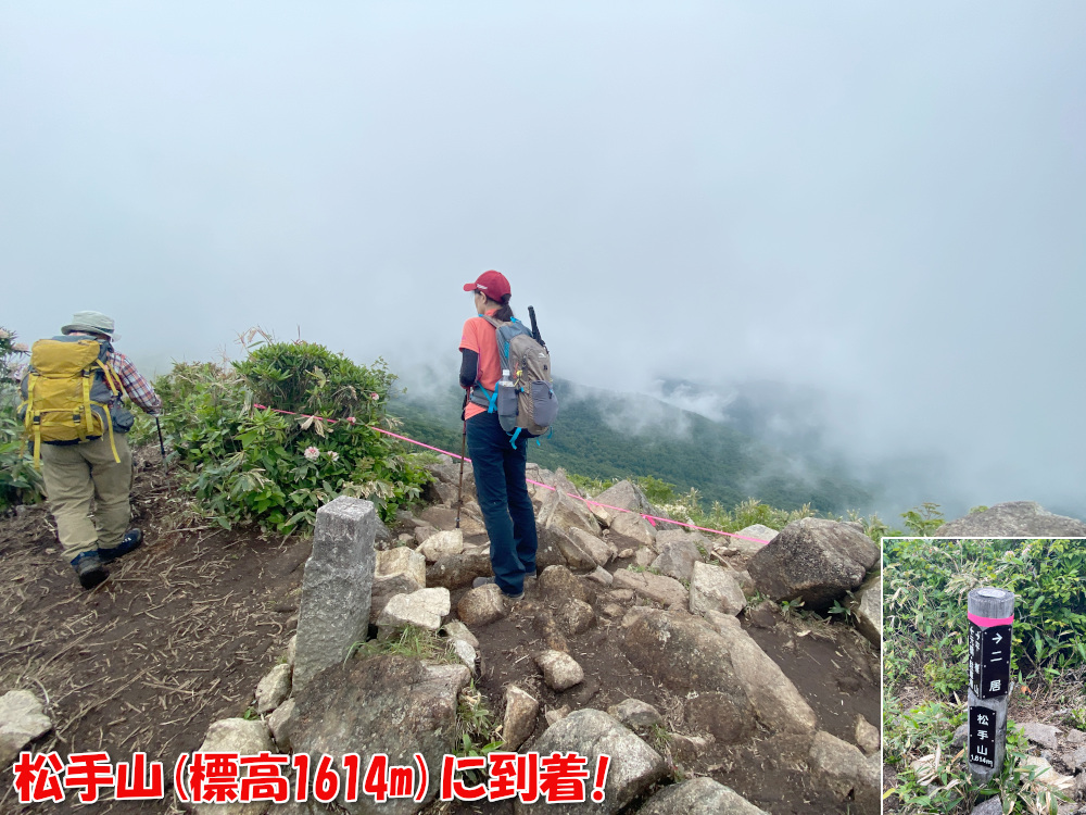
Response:
[[[279,661],[310,543],[200,524],[165,531],[164,521],[179,517],[177,482],[159,468],[157,451],[136,460],[132,524],[147,543],[112,564],[93,591],[80,589],[61,560],[43,506],[0,518],[0,693],[25,688],[48,697],[54,729],[35,751],[105,750],[117,762],[138,750],[162,761],[168,777],[212,722],[244,714]],[[10,780],[4,772],[0,812],[62,808],[21,807]],[[168,806],[111,801],[94,812]]]

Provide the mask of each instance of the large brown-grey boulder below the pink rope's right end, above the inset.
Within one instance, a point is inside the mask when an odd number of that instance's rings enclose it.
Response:
[[[846,524],[803,518],[752,557],[747,570],[762,594],[801,598],[808,609],[825,611],[863,582],[879,554],[870,538]]]

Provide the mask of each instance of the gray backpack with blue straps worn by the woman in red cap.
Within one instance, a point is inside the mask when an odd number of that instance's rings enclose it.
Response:
[[[542,436],[558,416],[558,398],[551,379],[551,354],[542,339],[538,339],[538,333],[533,335],[516,317],[509,323],[491,316],[483,316],[483,319],[496,329],[502,369],[509,373],[507,377],[502,376],[493,393],[476,385],[471,389],[471,401],[489,413],[497,412],[502,428],[513,434],[510,443],[516,448],[518,437]]]

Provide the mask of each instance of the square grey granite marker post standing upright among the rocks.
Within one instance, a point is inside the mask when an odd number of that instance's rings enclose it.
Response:
[[[377,554],[374,504],[341,496],[317,510],[313,554],[305,562],[293,687],[343,662],[366,639]]]

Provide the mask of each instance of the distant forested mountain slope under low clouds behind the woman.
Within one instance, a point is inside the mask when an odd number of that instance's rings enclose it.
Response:
[[[704,503],[725,507],[757,498],[781,509],[805,503],[820,512],[863,509],[869,491],[845,474],[793,459],[734,428],[644,396],[617,394],[555,383],[561,414],[554,436],[529,447],[529,461],[593,478],[651,475]],[[458,452],[462,392],[451,388],[422,401],[399,399],[390,413],[420,441]]]

